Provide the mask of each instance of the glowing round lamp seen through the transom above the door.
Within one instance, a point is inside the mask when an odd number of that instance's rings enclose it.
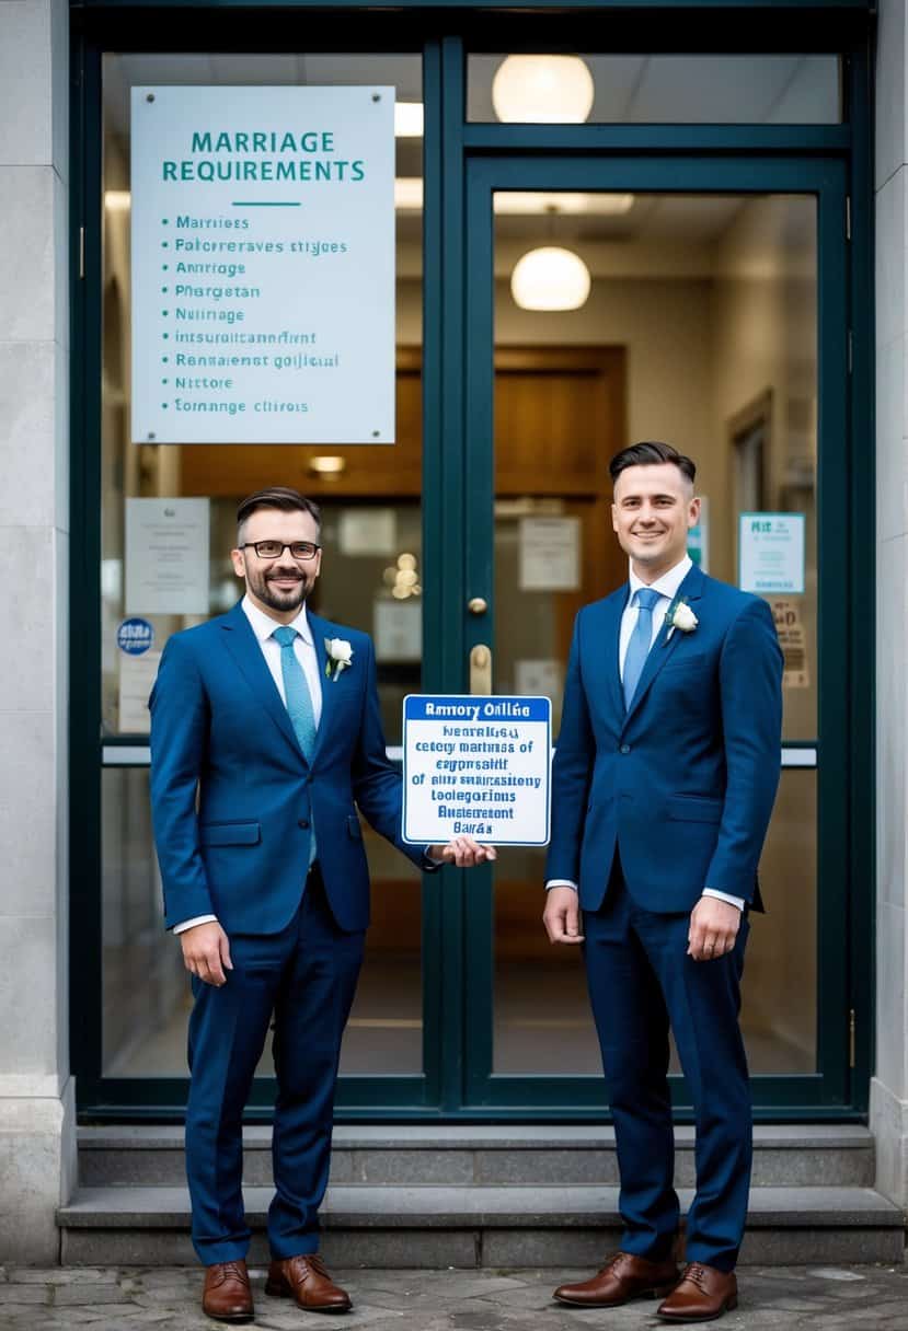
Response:
[[[594,93],[579,56],[507,56],[491,81],[491,104],[506,124],[582,125]]]

